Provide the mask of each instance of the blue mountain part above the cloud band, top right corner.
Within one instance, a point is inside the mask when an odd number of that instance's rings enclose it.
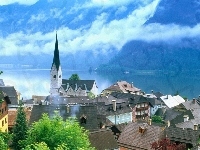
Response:
[[[200,1],[162,0],[152,18],[146,22],[194,26],[200,22]]]

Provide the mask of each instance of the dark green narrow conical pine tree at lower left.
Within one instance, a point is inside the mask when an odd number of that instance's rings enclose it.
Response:
[[[28,124],[26,120],[26,113],[20,102],[17,110],[17,118],[13,127],[12,147],[15,150],[21,150],[20,141],[26,139]]]

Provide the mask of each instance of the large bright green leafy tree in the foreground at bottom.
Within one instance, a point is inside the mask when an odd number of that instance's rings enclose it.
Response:
[[[88,132],[80,127],[74,119],[63,119],[58,115],[50,119],[47,114],[32,124],[24,147],[34,143],[44,142],[50,150],[90,150]]]

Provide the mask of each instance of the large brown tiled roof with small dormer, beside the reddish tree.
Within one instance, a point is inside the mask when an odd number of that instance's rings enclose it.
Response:
[[[139,127],[144,123],[130,123],[121,133],[118,144],[121,147],[137,150],[150,150],[151,144],[164,136],[164,128],[145,124],[144,133],[139,132]]]

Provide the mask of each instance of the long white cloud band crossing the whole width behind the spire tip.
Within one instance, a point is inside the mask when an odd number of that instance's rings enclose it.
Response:
[[[58,29],[59,49],[62,54],[93,50],[106,52],[111,48],[120,50],[131,40],[176,41],[200,37],[200,24],[194,27],[175,24],[161,25],[144,23],[153,16],[159,0],[134,10],[126,18],[108,22],[108,14],[102,13],[89,27],[76,30],[68,27]],[[13,33],[0,38],[1,55],[53,54],[55,31],[42,34]]]

